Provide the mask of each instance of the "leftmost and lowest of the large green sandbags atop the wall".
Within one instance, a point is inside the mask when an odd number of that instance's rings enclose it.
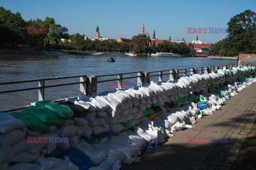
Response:
[[[12,112],[13,117],[22,120],[32,131],[45,131],[46,124],[34,115],[26,115],[24,112]]]

